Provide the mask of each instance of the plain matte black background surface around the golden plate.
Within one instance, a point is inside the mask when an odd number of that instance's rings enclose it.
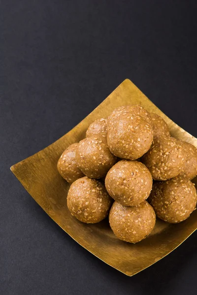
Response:
[[[125,78],[197,137],[197,2],[2,0],[0,295],[197,293],[197,233],[127,277],[61,230],[9,171]]]

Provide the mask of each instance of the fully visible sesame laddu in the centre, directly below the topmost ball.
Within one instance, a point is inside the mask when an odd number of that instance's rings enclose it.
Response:
[[[152,176],[140,162],[122,160],[116,163],[105,177],[109,195],[124,206],[139,205],[150,195]]]

